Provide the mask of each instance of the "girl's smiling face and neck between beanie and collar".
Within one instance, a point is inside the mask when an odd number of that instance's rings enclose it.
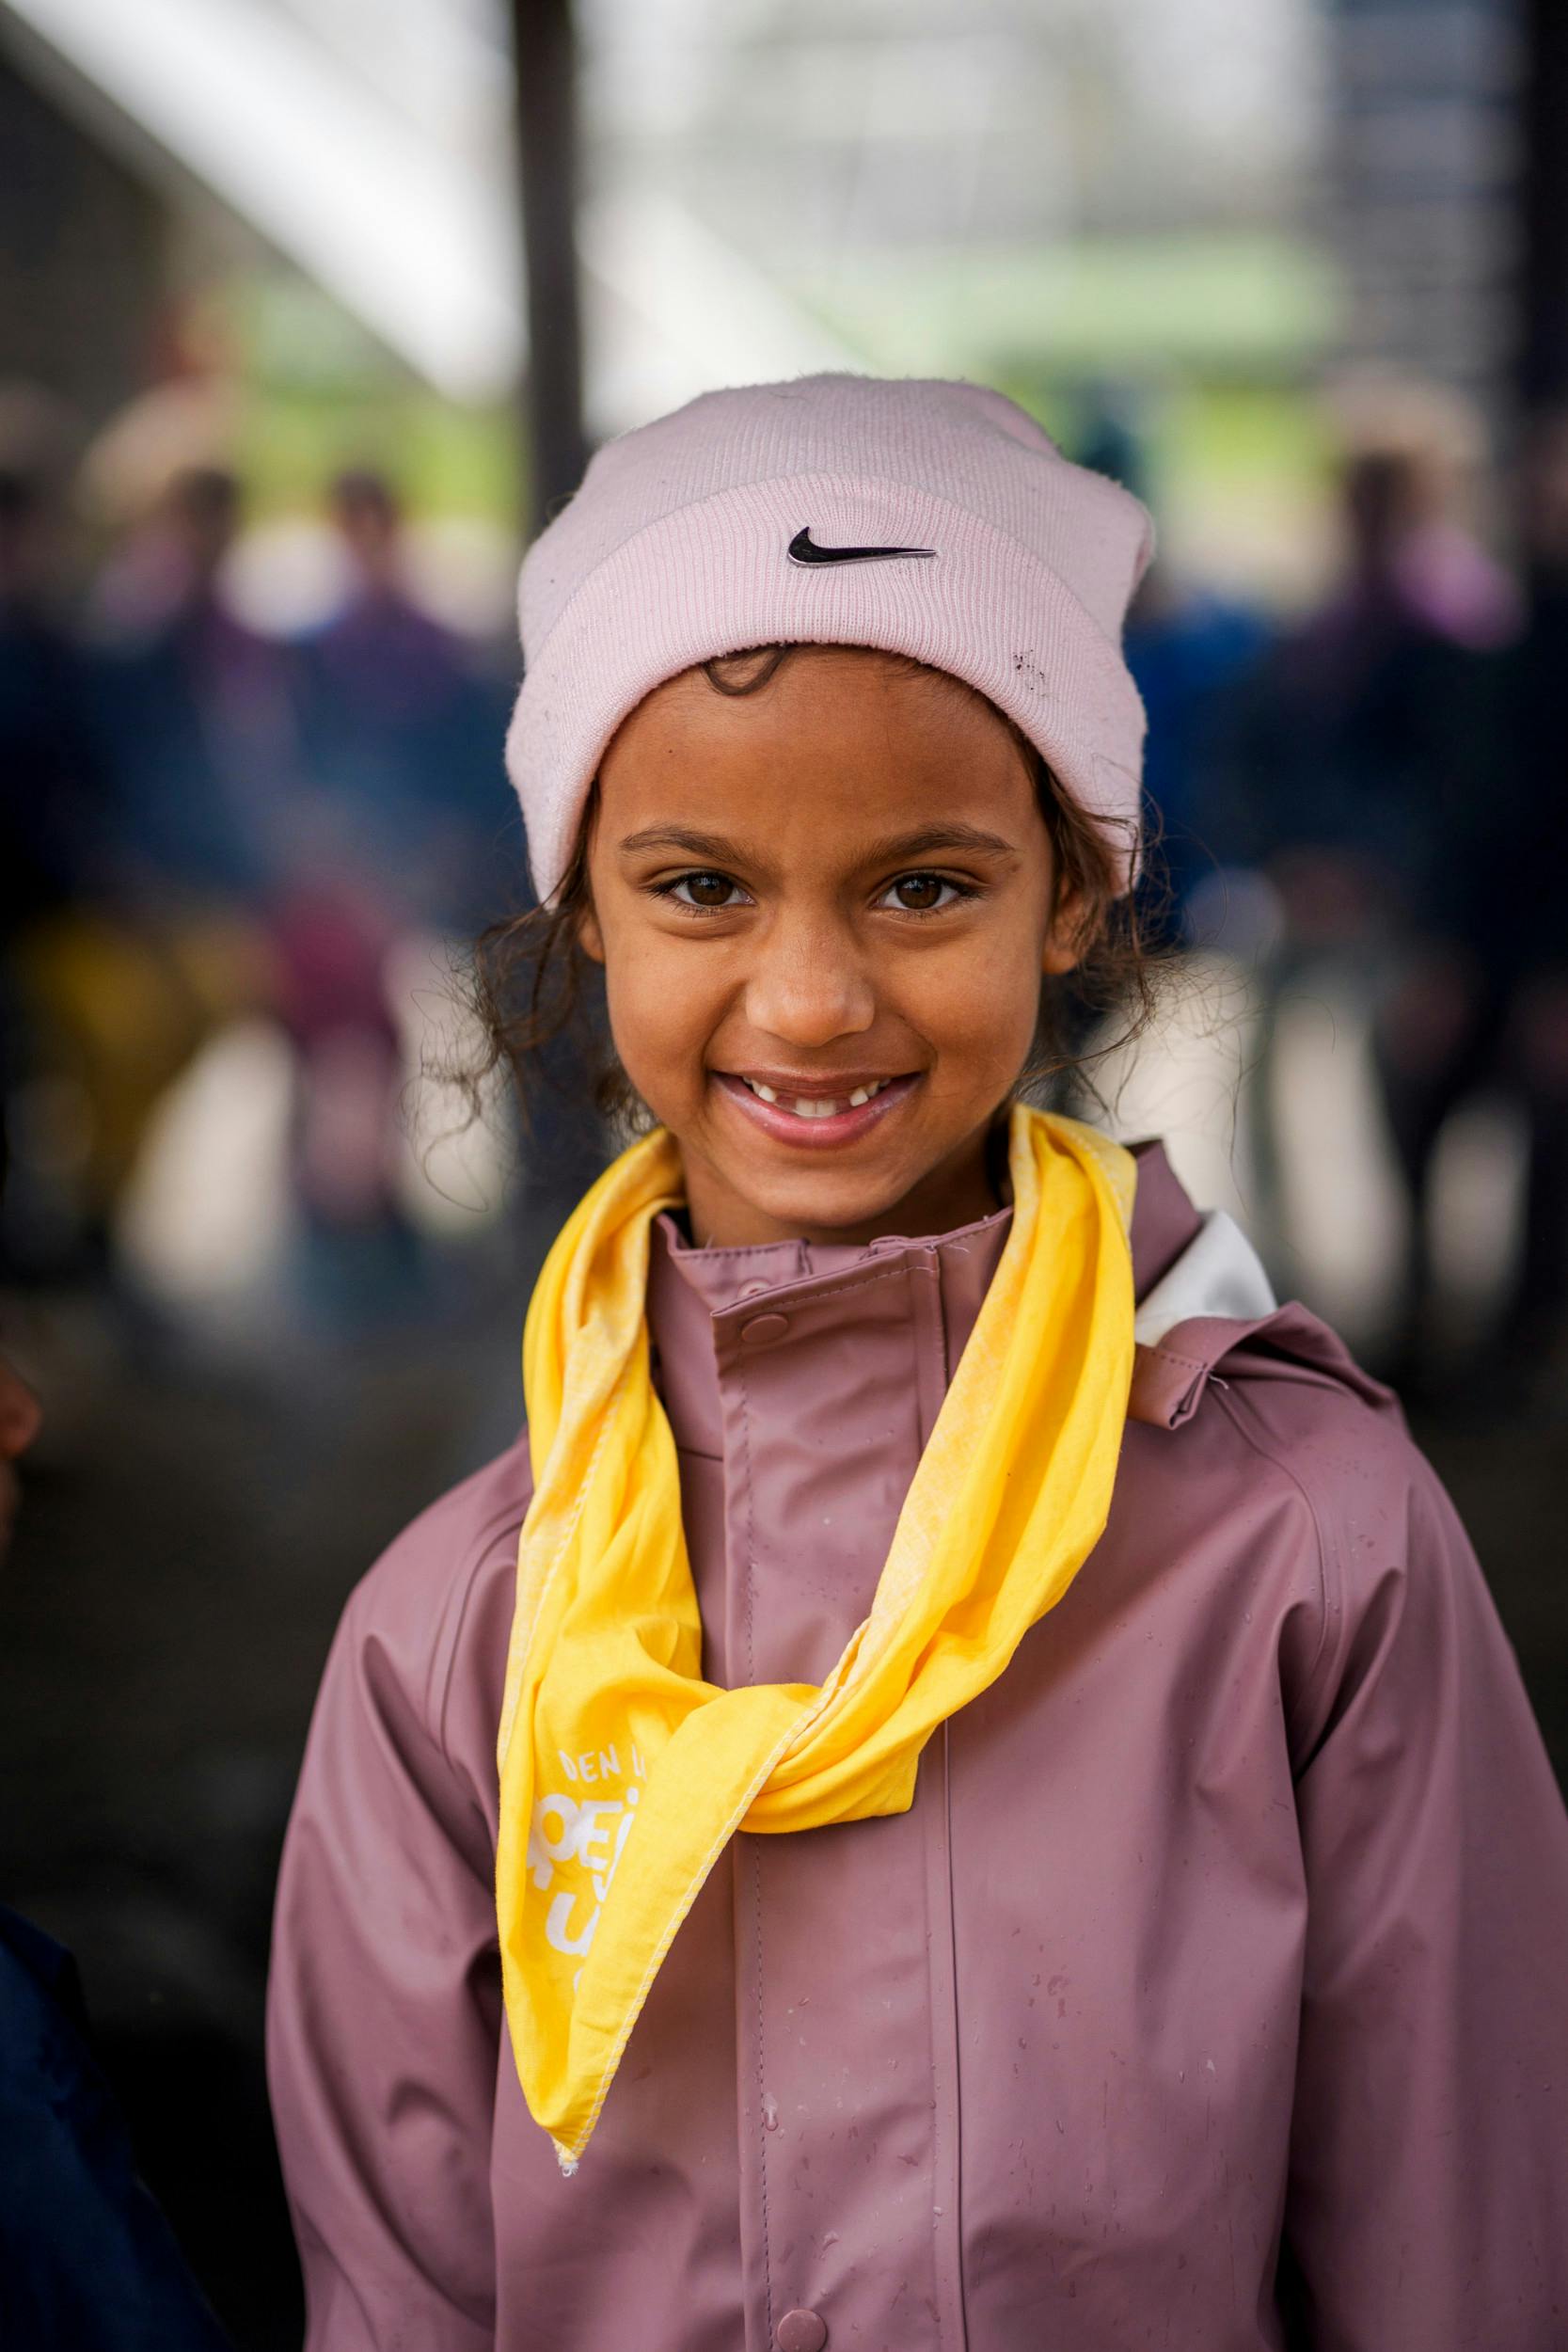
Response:
[[[599,767],[583,946],[672,1131],[698,1242],[943,1232],[997,1207],[987,1131],[1074,906],[978,694],[802,647],[755,694],[686,670]]]

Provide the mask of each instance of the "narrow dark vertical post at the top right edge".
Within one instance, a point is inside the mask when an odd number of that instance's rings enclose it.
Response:
[[[1528,416],[1568,402],[1568,9],[1563,0],[1526,0],[1523,31],[1519,395]]]

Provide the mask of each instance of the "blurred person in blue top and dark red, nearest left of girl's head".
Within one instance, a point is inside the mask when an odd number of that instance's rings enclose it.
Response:
[[[393,957],[425,943],[435,967],[494,913],[496,847],[517,818],[494,757],[505,687],[411,595],[395,487],[348,468],[329,515],[348,586],[292,647],[301,830],[268,931],[299,1056],[303,1291],[353,1324],[428,1303],[435,1275],[395,1174],[409,1070]]]

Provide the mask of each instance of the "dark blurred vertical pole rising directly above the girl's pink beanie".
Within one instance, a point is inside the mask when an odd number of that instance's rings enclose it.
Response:
[[[522,252],[529,273],[531,442],[527,527],[576,489],[583,437],[583,327],[576,263],[576,33],[571,0],[510,0],[517,89]]]

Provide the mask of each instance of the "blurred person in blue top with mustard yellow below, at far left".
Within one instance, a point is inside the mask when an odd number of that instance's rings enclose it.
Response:
[[[68,856],[12,936],[7,1249],[110,1291],[115,1204],[153,1105],[266,993],[256,913],[289,826],[289,706],[280,649],[219,593],[237,513],[230,473],[176,470],[87,597],[68,729],[38,666],[26,684]]]

